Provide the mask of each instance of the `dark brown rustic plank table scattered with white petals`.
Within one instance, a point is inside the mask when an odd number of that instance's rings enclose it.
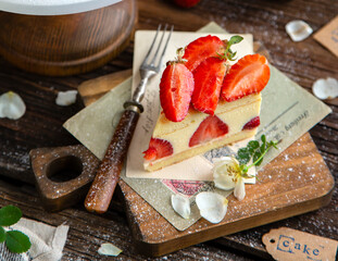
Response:
[[[159,23],[175,25],[176,30],[197,30],[214,21],[230,33],[253,34],[270,51],[272,64],[306,90],[317,78],[338,77],[337,58],[312,37],[292,42],[285,32],[291,20],[303,20],[316,32],[338,13],[336,0],[201,0],[193,9],[181,10],[168,0],[139,0],[137,29],[155,29]],[[98,254],[103,241],[123,249],[118,260],[145,260],[132,234],[118,198],[103,215],[88,213],[83,204],[58,213],[46,212],[33,185],[28,153],[34,148],[76,145],[62,124],[84,108],[80,99],[71,107],[59,107],[60,90],[76,89],[86,79],[130,69],[133,41],[109,64],[90,73],[48,77],[23,72],[0,59],[0,94],[13,90],[27,105],[18,121],[0,120],[0,206],[15,204],[24,216],[50,225],[66,223],[70,232],[63,260],[109,260]],[[326,102],[333,113],[314,126],[310,134],[331,174],[338,177],[338,99]],[[338,190],[327,207],[280,222],[188,247],[162,258],[149,260],[253,260],[268,259],[262,244],[271,228],[288,226],[338,239]]]

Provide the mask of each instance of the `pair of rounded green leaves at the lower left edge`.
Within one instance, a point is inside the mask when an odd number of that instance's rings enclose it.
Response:
[[[5,231],[3,226],[14,225],[22,217],[22,212],[15,206],[7,206],[0,209],[0,243],[5,243],[5,246],[11,252],[26,252],[32,244],[27,235],[20,231]]]

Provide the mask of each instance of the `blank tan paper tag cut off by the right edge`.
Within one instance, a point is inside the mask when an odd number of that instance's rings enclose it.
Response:
[[[338,15],[313,37],[338,57]]]

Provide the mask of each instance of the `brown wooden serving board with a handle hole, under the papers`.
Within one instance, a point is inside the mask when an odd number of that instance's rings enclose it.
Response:
[[[83,201],[99,165],[98,159],[84,146],[36,149],[30,157],[40,198],[45,208],[52,211]],[[84,167],[78,177],[62,183],[50,179],[58,170],[78,169],[77,160]],[[316,210],[329,203],[335,185],[309,134],[264,166],[258,176],[255,185],[247,185],[245,200],[238,201],[233,195],[228,197],[228,212],[221,223],[211,224],[201,219],[184,232],[177,231],[124,181],[120,181],[138,251],[151,257],[163,256]]]

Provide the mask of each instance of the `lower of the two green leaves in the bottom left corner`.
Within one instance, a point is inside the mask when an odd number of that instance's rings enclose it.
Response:
[[[26,252],[32,244],[24,233],[20,231],[9,231],[7,233],[5,246],[11,252],[22,253]]]

